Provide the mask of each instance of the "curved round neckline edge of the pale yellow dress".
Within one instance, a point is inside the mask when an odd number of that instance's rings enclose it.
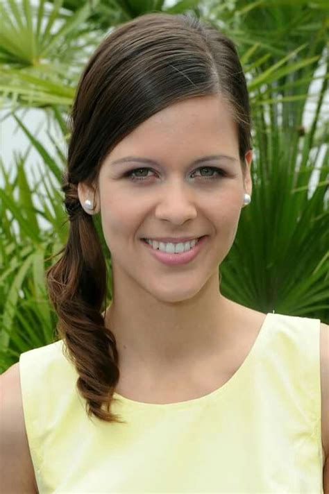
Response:
[[[267,326],[269,323],[269,316],[275,315],[274,313],[272,314],[271,312],[268,312],[266,316],[264,317],[264,321],[260,327],[260,330],[258,332],[258,335],[253,342],[253,346],[251,347],[251,350],[249,350],[248,355],[242,362],[242,364],[239,366],[237,371],[233,374],[233,376],[230,377],[230,379],[219,388],[215,389],[214,391],[211,391],[211,393],[207,393],[206,395],[199,396],[199,398],[192,398],[192,400],[185,400],[181,402],[174,402],[174,403],[149,403],[149,402],[140,402],[136,400],[131,400],[130,398],[126,398],[126,396],[120,395],[117,393],[117,391],[114,391],[113,393],[113,398],[117,401],[121,401],[122,404],[125,404],[128,407],[133,407],[135,409],[140,409],[140,408],[147,408],[147,409],[158,409],[158,410],[163,410],[163,409],[181,409],[181,408],[189,408],[193,407],[194,405],[198,404],[205,404],[206,402],[216,398],[218,395],[221,395],[223,393],[226,393],[227,391],[230,390],[232,386],[235,385],[237,380],[239,380],[239,377],[244,375],[246,368],[251,364],[251,361],[253,360],[253,356],[256,353],[256,350],[258,350],[258,347],[260,346],[260,341],[262,340],[262,335],[264,334],[264,328]]]

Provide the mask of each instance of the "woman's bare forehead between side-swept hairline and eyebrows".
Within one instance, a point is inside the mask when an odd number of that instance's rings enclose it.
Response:
[[[130,153],[180,155],[237,153],[237,128],[228,103],[219,95],[179,101],[142,122],[112,149],[108,159]]]

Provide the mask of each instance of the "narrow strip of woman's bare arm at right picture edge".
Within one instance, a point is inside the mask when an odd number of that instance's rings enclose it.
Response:
[[[320,324],[321,436],[326,459],[329,457],[329,325]]]

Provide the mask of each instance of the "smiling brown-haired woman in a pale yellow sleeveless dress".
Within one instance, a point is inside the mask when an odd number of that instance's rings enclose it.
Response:
[[[233,43],[187,16],[119,26],[71,130],[69,239],[47,273],[60,339],[3,375],[5,491],[322,492],[328,326],[219,287],[252,192]]]

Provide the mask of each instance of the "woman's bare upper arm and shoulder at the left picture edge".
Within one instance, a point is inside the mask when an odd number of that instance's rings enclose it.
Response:
[[[22,404],[19,362],[0,375],[0,477],[7,494],[36,494]]]

